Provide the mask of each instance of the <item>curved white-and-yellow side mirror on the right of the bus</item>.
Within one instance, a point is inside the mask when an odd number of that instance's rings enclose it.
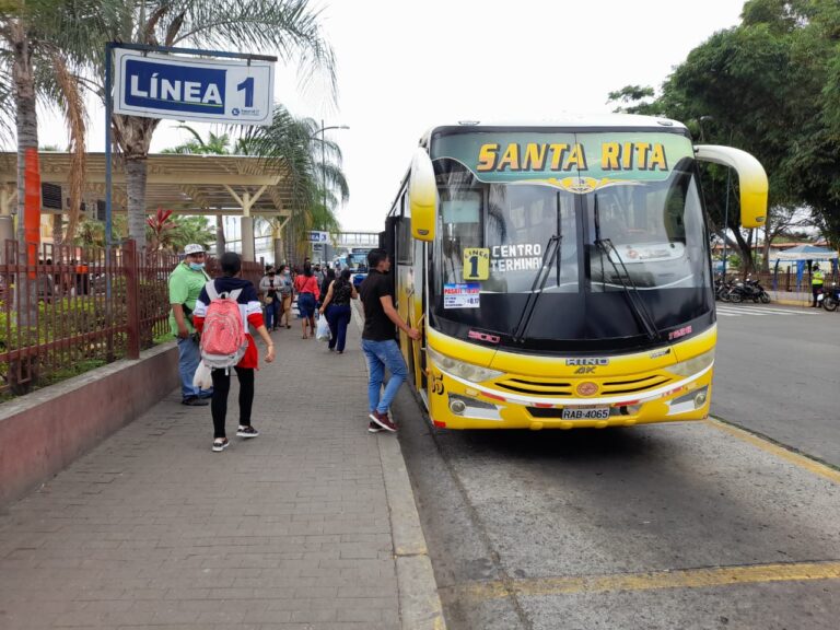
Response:
[[[695,147],[697,159],[734,168],[740,185],[740,224],[760,228],[767,222],[767,173],[752,155],[732,147]]]

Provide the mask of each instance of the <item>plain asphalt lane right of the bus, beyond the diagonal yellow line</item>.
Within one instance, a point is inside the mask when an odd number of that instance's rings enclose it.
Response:
[[[840,313],[718,310],[712,415],[840,468]]]

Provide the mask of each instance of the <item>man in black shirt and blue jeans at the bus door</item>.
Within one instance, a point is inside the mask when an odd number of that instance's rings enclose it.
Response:
[[[368,360],[368,401],[370,407],[368,431],[397,430],[388,417],[388,408],[397,395],[399,386],[408,376],[408,368],[395,339],[397,327],[411,339],[420,339],[420,331],[402,320],[394,308],[392,283],[387,273],[390,260],[384,249],[371,249],[368,254],[370,273],[362,282],[360,294],[364,308],[364,329],[362,330],[362,351]],[[385,368],[390,378],[382,393]]]

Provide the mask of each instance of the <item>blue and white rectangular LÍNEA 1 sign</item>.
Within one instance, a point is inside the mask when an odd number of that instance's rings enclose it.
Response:
[[[234,125],[271,122],[271,61],[116,49],[114,113]]]

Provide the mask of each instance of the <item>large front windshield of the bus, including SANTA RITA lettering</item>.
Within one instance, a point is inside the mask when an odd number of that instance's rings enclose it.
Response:
[[[712,324],[707,229],[687,138],[489,136],[432,144],[441,199],[430,266],[434,327],[568,351],[655,346]],[[565,155],[557,156],[561,147]],[[487,258],[485,271],[475,257]]]

